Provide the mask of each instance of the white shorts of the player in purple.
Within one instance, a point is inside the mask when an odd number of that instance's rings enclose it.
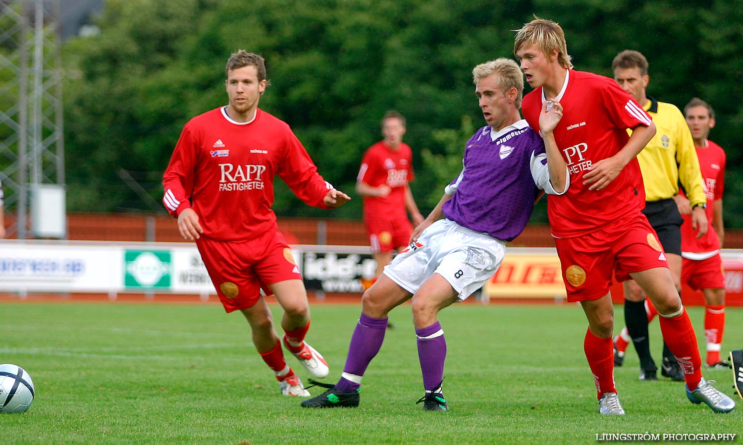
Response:
[[[384,274],[409,293],[415,293],[429,276],[438,273],[462,301],[496,273],[505,253],[504,241],[440,219],[395,256],[384,268]]]

